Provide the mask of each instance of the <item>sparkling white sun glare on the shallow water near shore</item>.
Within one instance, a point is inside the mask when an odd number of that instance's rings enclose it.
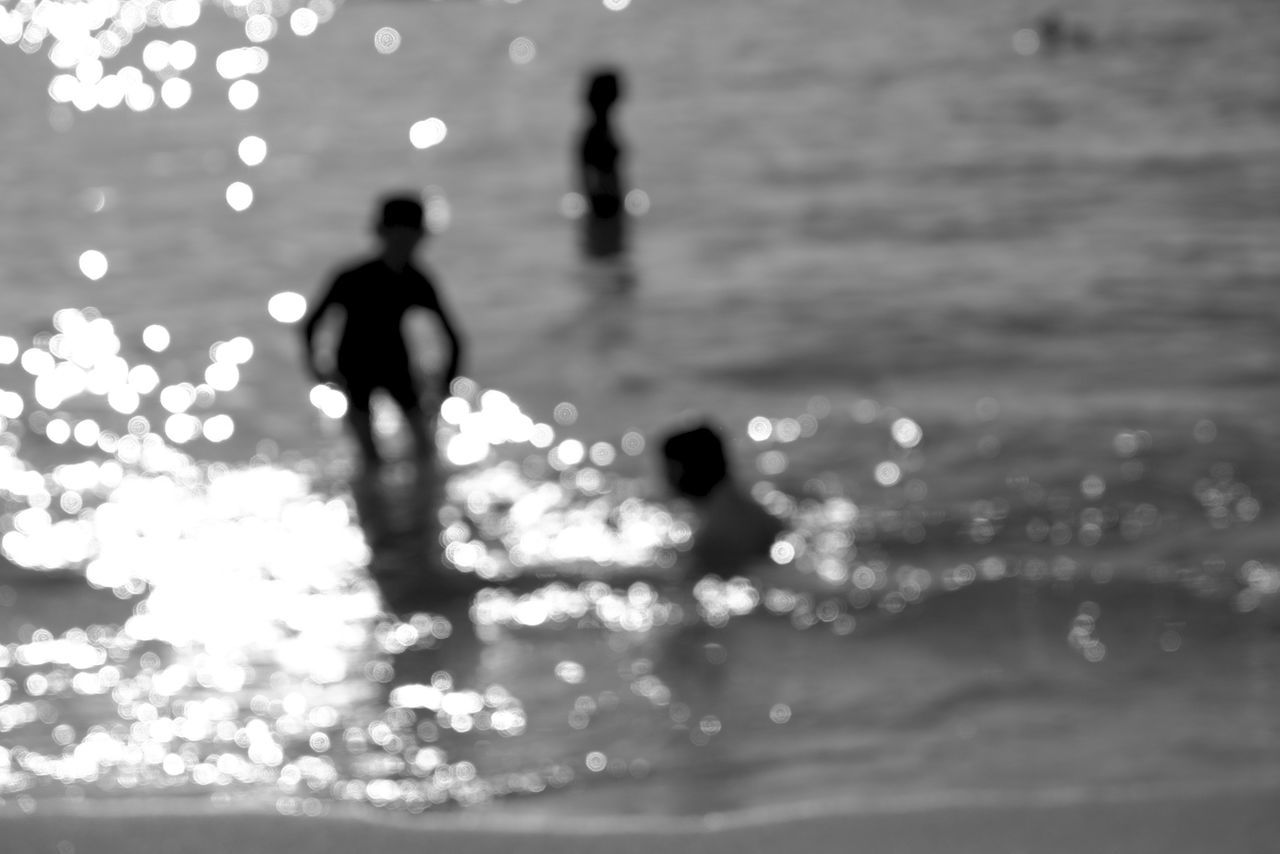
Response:
[[[457,681],[470,679],[466,668],[457,676],[436,670],[397,679],[398,657],[452,649],[472,629],[490,638],[485,643],[497,643],[502,632],[603,631],[618,639],[618,649],[643,649],[645,638],[684,632],[690,622],[727,629],[751,615],[845,636],[877,615],[904,613],[964,588],[1011,575],[1064,583],[1085,571],[1062,556],[1050,563],[987,554],[932,570],[893,563],[878,543],[895,536],[910,542],[916,529],[920,538],[936,535],[928,533],[936,520],[892,498],[797,501],[762,480],[753,494],[787,519],[769,557],[795,575],[781,584],[707,575],[681,594],[663,579],[676,577],[696,530],[687,508],[655,501],[640,480],[618,471],[626,457],[618,457],[613,442],[557,437],[509,396],[460,380],[457,394],[442,406],[436,433],[448,469],[438,511],[442,562],[431,572],[477,579],[476,595],[465,615],[393,617],[370,583],[380,547],[370,542],[349,497],[321,488],[314,466],[228,466],[179,451],[234,434],[230,415],[200,406],[206,387],[161,382],[155,369],[131,366],[119,355],[115,326],[92,310],[59,311],[54,326],[56,337],[23,353],[36,388],[54,382],[54,391],[37,391],[37,408],[24,424],[9,424],[0,442],[0,548],[27,571],[82,574],[92,588],[134,604],[118,624],[59,635],[29,627],[18,643],[0,647],[5,672],[19,676],[18,682],[0,682],[10,791],[92,785],[104,791],[251,793],[265,786],[296,793],[278,803],[284,812],[323,812],[334,800],[417,810],[563,787],[579,775],[600,773],[612,759],[566,748],[550,763],[515,759],[499,768],[468,739],[488,734],[509,740],[513,757],[527,755],[522,739],[534,712],[520,693]],[[152,337],[156,328],[148,326]],[[210,370],[251,367],[253,351],[243,335],[215,342]],[[206,398],[216,401],[228,384],[206,379]],[[122,388],[136,398],[128,410],[138,412],[127,424],[101,407],[84,410],[93,397]],[[154,408],[156,394],[166,417]],[[20,405],[22,397],[14,397]],[[340,417],[338,399],[344,403],[328,385],[312,392],[329,417]],[[558,410],[562,428],[579,416],[573,407],[570,417],[570,406],[566,401]],[[12,406],[0,415],[18,419],[24,410]],[[92,416],[79,415],[82,410]],[[818,435],[831,417],[829,407],[756,416],[744,433],[765,455],[781,455],[778,448],[795,447],[803,435]],[[884,489],[897,488],[901,471],[915,467],[924,431],[893,411],[873,424],[883,430],[886,447],[897,448],[877,479]],[[539,430],[545,442],[536,444]],[[641,438],[628,433],[617,446],[635,453]],[[41,472],[19,451],[44,442],[86,456],[64,456]],[[1121,455],[1142,453],[1137,434],[1121,434],[1116,443]],[[1210,519],[1243,525],[1256,515],[1248,492],[1226,469],[1197,489]],[[1078,494],[1098,502],[1106,492],[1103,478],[1091,474]],[[991,533],[982,531],[993,530],[1007,510],[975,502],[972,513],[969,530],[986,542]],[[1073,534],[1080,538],[1087,531],[1115,536],[1130,525],[1119,513],[1082,512],[1076,520]],[[1148,535],[1138,526],[1148,524],[1134,521],[1125,536]],[[1034,539],[1034,526],[1028,535]],[[558,580],[531,590],[504,586],[548,567],[557,567]],[[611,571],[628,567],[644,568],[649,577],[609,583]],[[1280,567],[1265,561],[1248,562],[1234,577],[1242,613],[1280,593]],[[1105,620],[1097,603],[1084,602],[1064,647],[1087,665],[1102,666],[1115,650],[1114,641],[1102,639]],[[1160,645],[1165,654],[1176,652],[1183,635],[1166,629]],[[723,666],[727,656],[723,644],[705,647],[713,665]],[[598,721],[608,720],[604,707],[616,705],[618,695],[582,694],[598,677],[581,661],[553,661],[548,675],[579,693],[564,698],[571,707],[564,732],[605,726]],[[742,726],[733,722],[733,707],[690,718],[680,693],[687,689],[654,672],[648,658],[635,658],[627,668],[628,693],[637,703],[627,714],[636,725],[659,732],[675,727],[695,748],[732,739]],[[759,725],[794,726],[806,713],[804,702],[772,690],[759,698]],[[99,712],[87,726],[61,723],[50,711],[95,697],[114,711],[106,717]]]

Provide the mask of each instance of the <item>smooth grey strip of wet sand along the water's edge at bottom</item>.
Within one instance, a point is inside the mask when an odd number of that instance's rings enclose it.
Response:
[[[841,810],[826,814],[772,814],[753,810],[686,819],[593,817],[539,818],[485,814],[430,817],[361,813],[358,817],[284,817],[178,804],[166,813],[152,802],[78,810],[42,805],[24,816],[12,805],[0,814],[0,834],[10,851],[114,854],[147,850],[204,854],[292,850],[323,854],[356,850],[435,850],[467,853],[541,851],[867,851],[876,854],[946,850],[950,854],[1036,851],[1272,851],[1280,837],[1280,790],[1174,795],[1080,803],[928,807]],[[113,805],[114,807],[114,805]],[[817,810],[818,808],[810,808]],[[141,846],[141,848],[140,848]]]

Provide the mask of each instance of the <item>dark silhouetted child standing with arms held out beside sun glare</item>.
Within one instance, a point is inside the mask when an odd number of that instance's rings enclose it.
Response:
[[[448,342],[448,364],[440,385],[428,392],[448,397],[462,360],[462,342],[435,287],[413,264],[413,252],[426,237],[422,205],[410,196],[385,198],[375,230],[380,242],[378,255],[340,271],[302,326],[307,367],[316,379],[334,382],[347,394],[347,423],[356,434],[366,474],[381,465],[369,414],[374,389],[384,389],[404,412],[419,460],[433,455],[420,399],[424,389],[413,376],[402,332],[404,314],[425,309],[435,315]],[[334,373],[317,367],[315,352],[316,328],[330,309],[344,315]]]

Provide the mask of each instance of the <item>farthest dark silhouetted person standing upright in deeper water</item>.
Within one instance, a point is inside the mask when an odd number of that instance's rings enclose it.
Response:
[[[579,184],[586,198],[582,251],[593,259],[626,251],[626,189],[618,165],[622,149],[609,123],[609,110],[621,97],[618,72],[604,68],[591,74],[586,88],[591,115],[579,146]]]

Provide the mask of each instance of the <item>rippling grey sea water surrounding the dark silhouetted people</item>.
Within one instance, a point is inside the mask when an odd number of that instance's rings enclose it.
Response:
[[[287,5],[83,4],[102,68],[3,6],[10,805],[1276,784],[1270,4]],[[600,63],[630,288],[575,252]],[[370,495],[294,324],[393,188],[470,382]],[[696,419],[759,563],[689,561]]]

